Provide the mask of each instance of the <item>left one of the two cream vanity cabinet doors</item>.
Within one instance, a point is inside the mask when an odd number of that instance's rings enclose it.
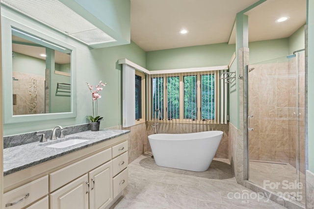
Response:
[[[88,209],[88,176],[81,176],[49,195],[50,209]]]

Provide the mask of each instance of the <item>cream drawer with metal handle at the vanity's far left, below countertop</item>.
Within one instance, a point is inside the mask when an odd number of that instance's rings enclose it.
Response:
[[[3,194],[3,208],[21,209],[48,194],[48,176]]]

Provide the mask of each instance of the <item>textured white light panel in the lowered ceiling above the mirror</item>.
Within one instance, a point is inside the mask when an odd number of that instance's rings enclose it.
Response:
[[[1,3],[86,45],[115,41],[58,0],[1,0]]]

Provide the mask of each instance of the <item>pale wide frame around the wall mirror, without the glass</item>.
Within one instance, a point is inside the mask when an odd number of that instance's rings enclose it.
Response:
[[[40,29],[40,23],[34,25]],[[38,26],[38,27],[37,27]],[[71,112],[67,113],[45,113],[33,115],[13,115],[13,89],[12,89],[12,27],[25,31],[37,37],[49,41],[53,44],[62,46],[71,50]],[[3,75],[3,123],[21,123],[42,120],[52,120],[61,118],[70,118],[77,116],[76,107],[76,47],[55,39],[47,34],[39,32],[22,23],[15,22],[3,15],[1,15],[1,33],[2,33],[2,75]],[[47,28],[45,28],[47,30]],[[52,30],[52,29],[51,29]]]

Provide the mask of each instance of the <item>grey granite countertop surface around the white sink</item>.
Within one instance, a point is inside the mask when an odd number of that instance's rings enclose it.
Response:
[[[113,139],[129,133],[128,130],[84,131],[65,136],[66,138],[48,140],[47,142],[33,142],[3,149],[3,175],[23,170],[39,163],[55,159],[68,153],[92,146],[105,140]],[[65,148],[46,147],[47,145],[72,139],[89,139],[88,141]]]

